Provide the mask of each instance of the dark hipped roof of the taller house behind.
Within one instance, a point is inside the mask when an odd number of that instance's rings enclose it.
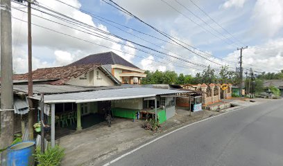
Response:
[[[87,57],[83,57],[82,59],[77,60],[76,62],[68,64],[67,66],[76,66],[82,64],[121,64],[123,66],[138,68],[137,66],[131,64],[130,62],[126,61],[126,59],[123,59],[123,57],[120,57],[112,51],[107,53],[88,55]]]

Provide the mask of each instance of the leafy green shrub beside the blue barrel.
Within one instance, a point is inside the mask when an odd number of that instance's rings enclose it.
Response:
[[[37,147],[33,156],[35,156],[38,166],[58,166],[64,156],[64,151],[65,149],[58,145],[48,148],[44,153],[40,150],[40,147]]]

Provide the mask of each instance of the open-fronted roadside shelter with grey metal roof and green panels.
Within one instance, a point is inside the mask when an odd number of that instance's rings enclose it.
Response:
[[[66,123],[69,120],[60,117],[74,117],[74,121],[71,119],[70,122],[76,122],[73,126],[77,130],[84,128],[83,123],[88,114],[97,115],[99,118],[99,114],[105,111],[112,111],[114,116],[121,118],[135,120],[150,117],[162,123],[175,115],[175,97],[180,93],[187,91],[137,87],[44,95],[47,108],[44,113],[50,119],[51,142],[54,143],[55,140],[55,123],[62,121],[64,127],[65,120]],[[38,101],[40,95],[32,99]],[[92,116],[91,120],[94,118]]]

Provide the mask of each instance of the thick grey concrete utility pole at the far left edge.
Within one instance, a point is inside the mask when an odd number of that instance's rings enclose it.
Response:
[[[14,108],[12,93],[12,24],[11,1],[1,0],[1,110],[0,149],[14,139]],[[0,154],[1,155],[1,154]],[[3,153],[2,165],[6,165]]]

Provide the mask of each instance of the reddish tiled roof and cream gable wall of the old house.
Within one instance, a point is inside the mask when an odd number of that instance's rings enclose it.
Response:
[[[28,73],[14,75],[13,82],[14,84],[27,84]],[[121,84],[101,64],[38,68],[33,71],[33,82],[35,84],[69,84],[75,86],[114,86]]]

